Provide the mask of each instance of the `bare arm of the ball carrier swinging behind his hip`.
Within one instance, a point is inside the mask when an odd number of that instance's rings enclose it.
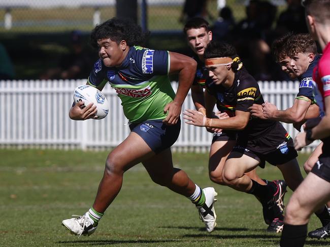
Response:
[[[183,101],[193,82],[197,63],[192,58],[175,52],[170,52],[170,59],[170,74],[179,74],[179,86],[174,100],[164,108],[164,112],[168,112],[168,115],[163,122],[167,125],[175,125],[180,117]]]

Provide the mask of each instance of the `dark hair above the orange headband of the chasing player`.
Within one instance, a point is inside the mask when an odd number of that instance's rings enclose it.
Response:
[[[225,42],[212,41],[205,49],[204,58],[233,58],[237,56],[236,54],[237,52],[234,46]]]

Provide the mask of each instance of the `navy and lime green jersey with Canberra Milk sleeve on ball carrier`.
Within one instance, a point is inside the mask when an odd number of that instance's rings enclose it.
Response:
[[[106,67],[101,59],[97,60],[88,83],[97,87],[109,81],[130,122],[164,119],[164,107],[175,97],[169,70],[168,51],[136,46],[129,48],[120,67]]]

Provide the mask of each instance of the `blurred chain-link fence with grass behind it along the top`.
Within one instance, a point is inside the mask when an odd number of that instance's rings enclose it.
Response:
[[[187,0],[189,8],[203,8],[204,1]],[[207,0],[203,16],[213,23],[219,10],[228,6],[236,21],[246,17],[247,0]],[[143,0],[138,1],[141,24]],[[151,31],[181,31],[185,0],[146,0],[147,28]],[[279,10],[284,0],[274,0]],[[129,8],[130,6],[127,6]],[[95,24],[116,16],[116,0],[2,0],[0,32],[58,32],[72,29],[90,31]]]

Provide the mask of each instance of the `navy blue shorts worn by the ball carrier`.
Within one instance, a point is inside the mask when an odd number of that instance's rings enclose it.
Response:
[[[129,129],[137,133],[155,153],[171,147],[178,139],[181,120],[176,125],[165,125],[162,120],[147,120],[141,123],[131,123]]]

